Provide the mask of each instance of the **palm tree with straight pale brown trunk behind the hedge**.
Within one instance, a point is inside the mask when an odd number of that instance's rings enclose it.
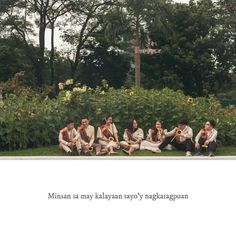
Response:
[[[162,22],[162,25],[165,25],[163,22],[166,20],[166,11],[165,4],[168,1],[165,0],[120,0],[117,4],[118,10],[113,11],[114,14],[114,23],[113,27],[109,27],[108,34],[116,35],[117,33],[123,34],[123,37],[126,40],[129,39],[131,46],[133,48],[134,55],[134,68],[135,68],[135,84],[136,86],[141,85],[140,77],[140,62],[141,62],[141,47],[150,47],[150,38],[149,36],[149,21],[152,16],[155,18],[154,23]],[[120,12],[119,15],[116,12]],[[155,16],[154,16],[155,15]],[[156,17],[158,15],[158,17]],[[120,17],[120,20],[117,19]],[[115,25],[116,22],[122,22],[123,25]],[[111,24],[112,22],[110,22]],[[123,27],[122,30],[121,28]],[[128,38],[128,37],[130,38]]]

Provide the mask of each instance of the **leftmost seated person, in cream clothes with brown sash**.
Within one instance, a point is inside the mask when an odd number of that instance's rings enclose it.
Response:
[[[58,140],[59,148],[64,150],[68,155],[80,155],[80,135],[76,131],[72,120],[68,120],[66,127],[60,130]]]

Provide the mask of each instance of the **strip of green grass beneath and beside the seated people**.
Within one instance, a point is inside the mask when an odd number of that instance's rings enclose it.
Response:
[[[4,151],[0,152],[0,156],[63,156],[65,155],[58,146],[49,146],[34,149],[25,149],[20,151]],[[152,153],[150,151],[137,151],[133,156],[184,156],[182,151],[163,151],[160,154]],[[236,156],[236,147],[221,147],[218,148],[217,156]],[[118,150],[117,156],[124,156],[121,150]]]

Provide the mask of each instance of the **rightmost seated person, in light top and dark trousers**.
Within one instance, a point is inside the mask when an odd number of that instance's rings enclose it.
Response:
[[[196,155],[202,155],[208,152],[209,156],[214,156],[216,152],[217,130],[215,129],[215,121],[207,120],[204,127],[198,132],[195,137]]]

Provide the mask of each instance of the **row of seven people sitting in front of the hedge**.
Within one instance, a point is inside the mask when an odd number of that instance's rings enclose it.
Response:
[[[116,154],[116,149],[131,155],[136,150],[150,150],[160,153],[163,149],[186,152],[186,156],[203,155],[207,153],[214,156],[216,151],[217,130],[215,121],[207,120],[195,139],[193,130],[188,121],[180,120],[177,126],[167,131],[162,120],[157,120],[155,125],[148,130],[146,140],[144,132],[139,127],[137,120],[133,119],[124,130],[123,140],[119,140],[116,125],[112,116],[107,116],[98,127],[95,138],[95,128],[90,124],[87,116],[83,117],[81,124],[75,129],[74,122],[69,120],[66,127],[59,132],[59,147],[68,155],[92,155],[93,151],[97,156]]]

